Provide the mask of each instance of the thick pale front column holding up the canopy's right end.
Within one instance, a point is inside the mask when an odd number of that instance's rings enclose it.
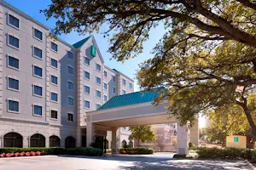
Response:
[[[177,122],[177,155],[189,154],[189,128],[188,123],[183,127]]]

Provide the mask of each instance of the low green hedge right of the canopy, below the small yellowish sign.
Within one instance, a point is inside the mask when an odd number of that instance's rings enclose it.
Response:
[[[238,148],[207,148],[198,147],[197,154],[200,158],[207,159],[253,159],[253,150]]]

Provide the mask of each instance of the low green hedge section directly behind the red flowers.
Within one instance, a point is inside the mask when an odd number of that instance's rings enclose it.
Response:
[[[12,152],[27,152],[27,151],[44,151],[45,155],[65,155],[67,150],[65,148],[0,148],[0,154]]]

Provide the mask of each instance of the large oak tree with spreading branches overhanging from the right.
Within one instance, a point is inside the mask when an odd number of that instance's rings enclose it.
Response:
[[[141,87],[165,87],[155,104],[167,99],[183,123],[204,110],[239,105],[256,136],[255,107],[247,101],[256,83],[255,2],[52,0],[43,12],[57,20],[55,34],[107,24],[109,52],[119,61],[142,53],[148,32],[163,22],[166,34],[138,72]]]

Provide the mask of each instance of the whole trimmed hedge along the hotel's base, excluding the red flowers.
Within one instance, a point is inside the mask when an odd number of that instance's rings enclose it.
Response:
[[[31,152],[40,151],[44,155],[72,155],[72,156],[102,156],[103,151],[96,148],[0,148],[2,153]]]

